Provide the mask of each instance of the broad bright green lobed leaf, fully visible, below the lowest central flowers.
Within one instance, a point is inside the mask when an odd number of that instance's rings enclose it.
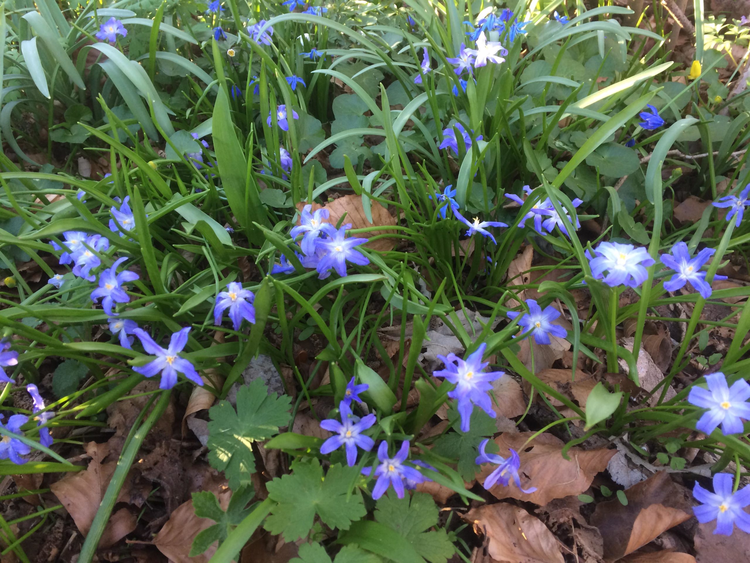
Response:
[[[331,528],[349,529],[353,521],[367,513],[359,489],[352,491],[357,475],[357,468],[336,464],[324,479],[317,459],[293,462],[291,474],[266,483],[269,498],[278,505],[272,508],[264,527],[294,541],[308,534],[317,514]]]

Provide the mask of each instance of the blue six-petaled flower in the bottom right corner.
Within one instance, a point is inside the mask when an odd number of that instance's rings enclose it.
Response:
[[[735,524],[750,534],[750,514],[743,510],[750,504],[750,486],[732,492],[732,483],[730,474],[717,473],[713,476],[714,492],[703,489],[697,482],[693,487],[695,500],[703,503],[693,507],[693,513],[701,524],[715,520],[714,534],[730,536]]]

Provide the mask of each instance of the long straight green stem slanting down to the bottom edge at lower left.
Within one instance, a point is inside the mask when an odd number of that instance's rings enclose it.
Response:
[[[104,498],[102,499],[101,504],[99,505],[99,510],[97,510],[96,516],[94,517],[94,522],[92,522],[92,528],[86,536],[83,548],[81,548],[81,554],[78,558],[79,563],[91,563],[99,544],[101,534],[104,533],[104,528],[107,527],[107,522],[110,521],[110,514],[112,513],[117,497],[120,494],[120,489],[125,482],[125,477],[127,477],[127,473],[130,471],[130,465],[133,465],[133,461],[135,460],[138,450],[148,434],[148,431],[151,430],[151,427],[160,419],[161,415],[166,410],[166,406],[169,405],[170,394],[169,391],[163,391],[161,393],[161,396],[156,402],[156,405],[154,405],[151,414],[148,415],[148,418],[142,426],[136,430],[133,438],[127,443],[127,446],[123,450],[120,459],[118,460],[115,474],[113,474],[112,480],[110,480],[110,485],[107,486],[107,492],[104,493]],[[146,405],[144,411],[148,409],[149,405],[150,403]]]

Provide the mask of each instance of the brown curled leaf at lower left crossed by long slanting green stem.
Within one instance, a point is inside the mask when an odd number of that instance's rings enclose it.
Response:
[[[83,535],[89,533],[94,516],[99,509],[99,504],[101,504],[101,499],[104,497],[104,492],[107,490],[107,486],[110,484],[112,475],[117,467],[116,461],[102,463],[109,453],[107,444],[89,442],[89,444],[86,444],[86,453],[89,453],[89,456],[92,457],[92,461],[89,463],[86,471],[68,474],[61,480],[58,480],[57,483],[52,483],[49,486],[52,489],[52,493],[54,493],[65,507],[65,510],[68,510],[68,513],[73,517],[74,522],[76,522],[78,529]],[[130,501],[132,490],[130,483],[130,476],[128,476],[120,490],[120,495],[117,498],[118,501]],[[122,513],[123,510],[124,513]],[[113,514],[110,522],[107,523],[105,535],[100,540],[100,546],[113,545],[135,529],[135,519],[131,519],[126,513],[129,514],[128,510],[123,508]],[[105,544],[104,540],[111,543]]]

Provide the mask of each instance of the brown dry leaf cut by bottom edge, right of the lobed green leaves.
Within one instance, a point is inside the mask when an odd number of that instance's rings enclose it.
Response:
[[[489,540],[487,551],[505,563],[563,563],[552,532],[523,508],[500,502],[474,508],[463,516]]]

